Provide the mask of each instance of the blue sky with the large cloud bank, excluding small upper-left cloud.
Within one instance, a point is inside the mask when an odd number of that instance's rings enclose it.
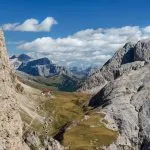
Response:
[[[149,7],[148,0],[1,0],[0,24],[21,25],[31,18],[40,24],[51,17],[57,24],[49,30],[7,28],[9,53],[47,56],[64,65],[102,65],[125,42],[149,37]]]

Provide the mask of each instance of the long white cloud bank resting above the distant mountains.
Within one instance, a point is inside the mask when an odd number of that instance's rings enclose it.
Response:
[[[46,56],[66,66],[103,65],[126,42],[150,37],[150,26],[87,29],[64,38],[42,37],[19,45],[37,57]]]

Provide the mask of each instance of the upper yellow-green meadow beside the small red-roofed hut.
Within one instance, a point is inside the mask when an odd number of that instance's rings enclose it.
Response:
[[[65,124],[81,119],[84,116],[82,106],[88,101],[89,97],[88,94],[60,91],[54,91],[52,96],[53,98],[41,96],[41,92],[39,97],[35,97],[33,94],[29,96],[32,101],[38,103],[39,109],[35,112],[45,117],[46,124],[38,122],[36,118],[31,118],[24,111],[20,111],[22,120],[30,124],[32,129],[50,136],[55,135]]]

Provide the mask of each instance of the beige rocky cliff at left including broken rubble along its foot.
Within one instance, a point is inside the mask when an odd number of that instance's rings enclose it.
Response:
[[[0,150],[63,150],[59,142],[52,137],[35,132],[29,128],[30,124],[22,121],[21,111],[24,112],[25,118],[28,115],[33,120],[37,116],[41,117],[33,112],[33,108],[29,108],[31,105],[27,106],[27,101],[31,102],[34,95],[30,99],[30,92],[26,87],[18,81],[10,67],[4,33],[0,30]]]

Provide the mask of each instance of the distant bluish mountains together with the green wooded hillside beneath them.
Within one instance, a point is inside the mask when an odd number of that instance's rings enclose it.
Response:
[[[16,70],[16,75],[26,79],[26,83],[35,86],[38,83],[48,88],[61,91],[75,91],[85,80],[90,70],[78,72],[52,63],[48,58],[33,59],[26,54],[10,57],[11,66]],[[86,73],[85,73],[86,72]],[[36,83],[33,83],[33,80]],[[32,84],[31,84],[32,82]]]

